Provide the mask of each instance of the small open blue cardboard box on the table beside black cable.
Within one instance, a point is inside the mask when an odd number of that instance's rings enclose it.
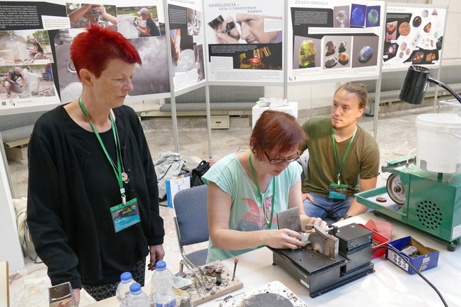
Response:
[[[399,238],[394,241],[390,241],[388,245],[392,245],[396,250],[403,250],[407,246],[411,245],[417,248],[418,256],[409,257],[402,254],[402,257],[407,259],[418,271],[425,271],[427,269],[432,269],[437,266],[439,262],[439,251],[434,250],[433,248],[427,248],[423,244],[416,241],[411,236],[406,236],[404,238]],[[400,255],[397,255],[396,252],[392,250],[386,250],[386,258],[393,262],[396,266],[400,266],[402,269],[407,271],[410,274],[415,274],[416,271],[411,269],[411,267],[405,262]]]

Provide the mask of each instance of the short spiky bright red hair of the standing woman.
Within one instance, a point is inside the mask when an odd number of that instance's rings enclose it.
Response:
[[[138,51],[122,34],[98,26],[89,27],[87,31],[74,38],[71,59],[78,78],[80,69],[88,69],[99,78],[110,59],[121,59],[128,64],[141,64]]]

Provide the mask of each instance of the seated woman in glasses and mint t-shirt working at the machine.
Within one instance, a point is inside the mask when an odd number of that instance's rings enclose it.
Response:
[[[250,137],[250,150],[215,163],[202,179],[208,185],[210,245],[207,263],[269,245],[296,249],[305,246],[298,232],[277,229],[275,213],[299,208],[302,224],[321,224],[302,208],[301,166],[291,163],[305,133],[287,113],[265,110]]]

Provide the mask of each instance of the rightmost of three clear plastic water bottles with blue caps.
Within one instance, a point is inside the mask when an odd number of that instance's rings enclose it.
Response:
[[[176,306],[176,292],[173,289],[173,273],[166,269],[166,263],[159,261],[152,274],[154,307]]]

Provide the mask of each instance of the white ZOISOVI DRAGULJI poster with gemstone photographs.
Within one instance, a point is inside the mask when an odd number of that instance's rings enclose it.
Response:
[[[288,82],[378,78],[384,1],[288,0]]]

